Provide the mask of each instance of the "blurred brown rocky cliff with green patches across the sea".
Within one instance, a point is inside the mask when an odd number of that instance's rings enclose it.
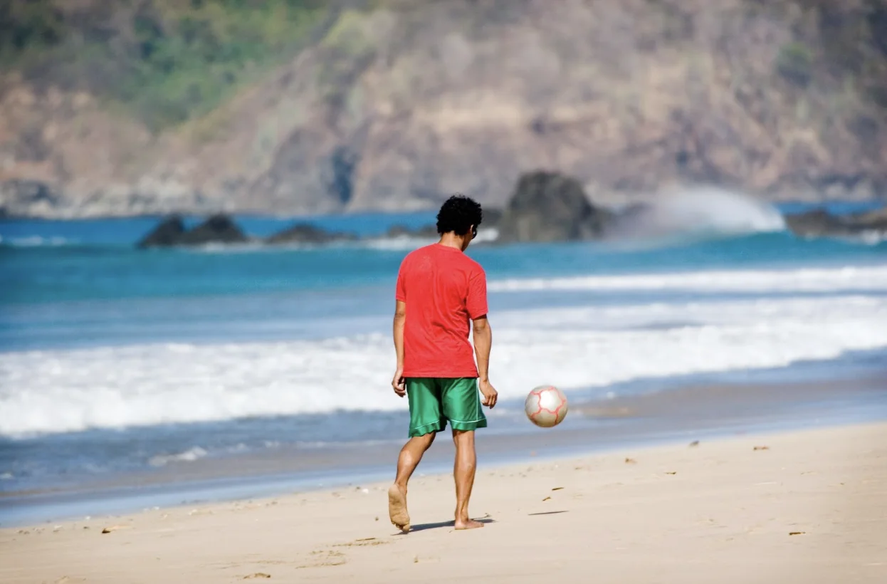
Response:
[[[4,10],[6,214],[501,206],[537,168],[601,202],[887,196],[887,0]]]

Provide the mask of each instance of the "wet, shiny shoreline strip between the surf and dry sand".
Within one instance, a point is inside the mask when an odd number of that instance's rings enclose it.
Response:
[[[887,421],[887,385],[879,375],[819,383],[702,384],[577,403],[571,409],[569,423],[554,429],[484,432],[478,437],[479,464],[498,468],[625,447]],[[373,482],[393,473],[404,440],[171,462],[79,487],[0,493],[0,528]],[[440,440],[419,472],[446,472],[451,456],[449,440]]]

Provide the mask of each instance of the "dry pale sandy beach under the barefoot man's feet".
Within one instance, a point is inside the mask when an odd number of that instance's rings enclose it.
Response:
[[[482,460],[472,532],[451,527],[451,477],[417,473],[405,535],[387,486],[8,528],[0,581],[887,581],[883,422]]]

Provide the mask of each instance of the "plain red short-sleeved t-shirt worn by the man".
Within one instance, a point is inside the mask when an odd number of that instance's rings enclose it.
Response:
[[[470,320],[487,313],[483,268],[435,243],[404,257],[396,299],[406,303],[404,377],[477,377]]]

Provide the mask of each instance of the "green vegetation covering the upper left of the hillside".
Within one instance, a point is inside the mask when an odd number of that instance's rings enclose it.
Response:
[[[211,111],[298,51],[331,12],[320,0],[66,4],[0,3],[0,66],[85,85],[155,130]]]

